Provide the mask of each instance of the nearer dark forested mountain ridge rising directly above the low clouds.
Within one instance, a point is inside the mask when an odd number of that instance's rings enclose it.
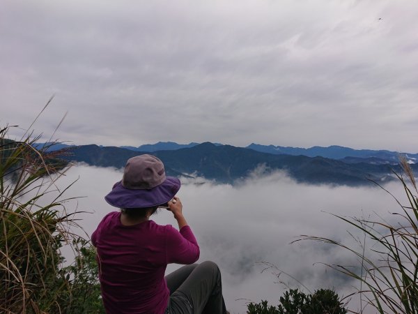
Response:
[[[322,156],[268,154],[245,147],[217,146],[210,142],[182,149],[153,152],[99,147],[94,144],[73,147],[70,151],[71,156],[63,157],[68,161],[117,168],[124,167],[128,158],[151,153],[164,162],[168,175],[179,177],[194,174],[227,184],[247,178],[260,165],[263,165],[264,174],[283,170],[300,183],[348,186],[369,184],[370,179],[385,182],[391,179],[392,169],[400,170],[398,165],[385,163],[344,163]]]

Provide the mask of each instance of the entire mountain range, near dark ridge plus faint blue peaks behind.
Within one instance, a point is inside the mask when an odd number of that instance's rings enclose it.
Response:
[[[164,162],[168,175],[199,176],[229,184],[245,179],[260,165],[263,165],[265,174],[274,170],[285,170],[299,182],[349,186],[369,184],[369,179],[380,183],[389,181],[393,178],[392,170],[400,171],[397,165],[399,154],[390,151],[357,151],[346,147],[312,147],[311,149],[293,149],[293,154],[289,154],[288,151],[291,151],[292,148],[286,147],[280,148],[281,152],[279,153],[277,151],[280,150],[276,149],[275,154],[272,154],[261,151],[274,149],[269,146],[251,144],[244,148],[209,142],[187,145],[160,142],[145,147],[148,148],[148,151],[138,151],[139,148],[132,150],[123,147],[99,147],[98,145],[67,147],[65,149],[67,156],[63,156],[63,158],[98,167],[121,168],[132,156],[152,153]],[[156,147],[166,149],[153,150]],[[284,150],[287,154],[284,154]],[[300,151],[305,155],[298,154]],[[316,154],[315,152],[336,158],[312,156],[312,154]],[[307,154],[311,154],[311,156],[306,156]],[[408,157],[412,163],[412,160],[418,156],[408,154]],[[415,169],[418,164],[412,164],[412,167]]]

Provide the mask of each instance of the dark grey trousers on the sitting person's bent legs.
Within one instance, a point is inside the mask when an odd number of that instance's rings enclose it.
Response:
[[[214,262],[186,265],[166,277],[167,314],[226,314],[221,272]]]

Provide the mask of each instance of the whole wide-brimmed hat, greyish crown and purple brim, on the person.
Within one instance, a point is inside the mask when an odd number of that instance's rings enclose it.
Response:
[[[179,179],[165,175],[159,158],[144,154],[127,160],[122,181],[114,184],[104,200],[118,208],[153,207],[169,202],[180,185]]]

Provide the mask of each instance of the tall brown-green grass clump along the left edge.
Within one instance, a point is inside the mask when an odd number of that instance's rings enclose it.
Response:
[[[10,128],[0,129],[0,313],[70,313],[74,278],[60,248],[80,238],[64,207],[69,186],[56,185],[65,163],[33,148],[39,137],[8,139]]]

